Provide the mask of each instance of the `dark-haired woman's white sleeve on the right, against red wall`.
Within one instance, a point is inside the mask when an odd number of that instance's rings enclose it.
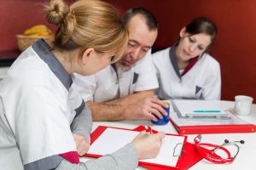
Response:
[[[221,74],[219,64],[212,69],[212,75],[207,77],[207,84],[204,88],[204,99],[220,99],[221,94]]]

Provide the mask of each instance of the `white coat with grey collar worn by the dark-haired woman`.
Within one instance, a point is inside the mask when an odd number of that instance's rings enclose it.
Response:
[[[221,78],[218,61],[203,54],[183,76],[177,68],[174,48],[153,54],[153,63],[160,84],[160,99],[220,99]]]

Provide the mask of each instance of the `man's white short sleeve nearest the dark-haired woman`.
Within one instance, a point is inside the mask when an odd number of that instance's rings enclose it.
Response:
[[[148,51],[146,56],[139,61],[139,68],[137,72],[139,74],[136,82],[135,91],[143,91],[158,88],[158,81],[155,75],[155,69],[152,62],[151,50]]]

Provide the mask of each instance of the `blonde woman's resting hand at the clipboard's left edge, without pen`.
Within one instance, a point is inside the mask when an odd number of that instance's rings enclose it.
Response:
[[[89,150],[89,142],[84,138],[83,135],[77,133],[73,133],[73,139],[76,142],[79,156],[84,156],[84,154]]]

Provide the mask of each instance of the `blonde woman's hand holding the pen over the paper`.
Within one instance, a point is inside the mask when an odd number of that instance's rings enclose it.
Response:
[[[148,134],[143,131],[131,141],[137,149],[137,156],[139,159],[153,158],[158,155],[162,144],[162,139],[165,138],[165,133],[151,133]]]

